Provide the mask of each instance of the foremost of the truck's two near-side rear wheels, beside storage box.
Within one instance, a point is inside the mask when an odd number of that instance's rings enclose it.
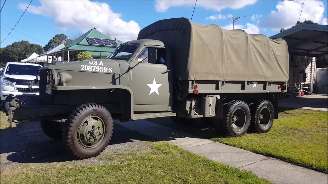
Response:
[[[227,137],[243,136],[250,124],[251,113],[246,102],[241,100],[230,101],[224,107],[222,129]]]

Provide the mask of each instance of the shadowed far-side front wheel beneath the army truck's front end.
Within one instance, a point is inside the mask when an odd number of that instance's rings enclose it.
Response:
[[[42,131],[50,138],[59,140],[62,138],[62,126],[58,121],[41,121]]]

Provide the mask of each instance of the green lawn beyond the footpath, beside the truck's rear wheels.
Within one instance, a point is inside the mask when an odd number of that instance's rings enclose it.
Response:
[[[295,109],[281,112],[279,116],[268,133],[246,134],[240,138],[222,138],[211,128],[177,126],[168,118],[149,120],[213,141],[328,172],[327,112]]]

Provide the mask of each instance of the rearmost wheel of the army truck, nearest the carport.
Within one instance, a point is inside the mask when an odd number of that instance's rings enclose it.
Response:
[[[272,127],[275,110],[268,100],[259,100],[252,104],[251,131],[267,133]]]

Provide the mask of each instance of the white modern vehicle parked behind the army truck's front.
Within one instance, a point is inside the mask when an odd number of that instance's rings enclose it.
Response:
[[[34,94],[39,95],[39,86],[33,84],[40,64],[7,62],[0,72],[0,98],[5,100],[12,94],[16,95]]]

